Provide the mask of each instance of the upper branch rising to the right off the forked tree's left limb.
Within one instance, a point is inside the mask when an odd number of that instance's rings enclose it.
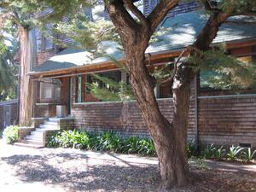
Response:
[[[160,22],[164,20],[168,12],[177,6],[177,0],[160,0],[154,10],[148,15],[151,32],[154,32]]]

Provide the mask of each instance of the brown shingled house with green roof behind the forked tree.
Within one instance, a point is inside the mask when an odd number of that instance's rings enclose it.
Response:
[[[143,12],[148,15],[157,1],[144,1]],[[93,12],[93,10],[92,10]],[[104,15],[104,13],[103,13]],[[250,20],[256,20],[250,18]],[[256,25],[247,18],[232,18],[222,26],[213,44],[225,43],[230,55],[251,63],[255,60]],[[180,3],[161,24],[172,32],[160,37],[147,49],[148,69],[175,61],[181,51],[193,43],[201,26],[200,3]],[[70,41],[60,37],[63,41]],[[72,41],[70,41],[72,42]],[[125,71],[116,67],[109,58],[84,60],[86,50],[61,48],[38,32],[38,63],[31,75],[35,84],[37,103],[34,117],[55,117],[56,106],[66,107],[66,116],[73,117],[75,128],[90,131],[113,130],[125,135],[149,136],[136,101],[104,102],[95,98],[85,87],[91,82],[91,73],[101,74],[116,81],[129,83]],[[123,55],[113,42],[103,44],[113,58],[123,61]],[[60,51],[61,50],[61,51]],[[202,144],[241,144],[256,147],[256,92],[249,90],[216,90],[201,86],[199,77],[191,84],[188,139]],[[171,84],[155,88],[160,110],[172,120]]]

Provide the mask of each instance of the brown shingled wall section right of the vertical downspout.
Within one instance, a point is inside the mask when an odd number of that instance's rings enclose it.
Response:
[[[198,104],[202,143],[256,147],[256,96],[201,97]]]

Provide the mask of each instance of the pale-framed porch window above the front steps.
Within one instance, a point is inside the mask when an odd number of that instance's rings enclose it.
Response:
[[[51,79],[46,82],[41,82],[41,99],[61,100],[61,81]]]

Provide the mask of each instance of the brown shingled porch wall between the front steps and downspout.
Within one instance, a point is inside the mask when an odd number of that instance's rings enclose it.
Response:
[[[160,110],[172,121],[172,99],[160,99]],[[148,130],[137,102],[95,102],[75,103],[72,108],[75,127],[88,131],[121,131],[124,135],[148,137]],[[195,132],[194,102],[191,102],[189,113],[189,140],[194,139]]]

